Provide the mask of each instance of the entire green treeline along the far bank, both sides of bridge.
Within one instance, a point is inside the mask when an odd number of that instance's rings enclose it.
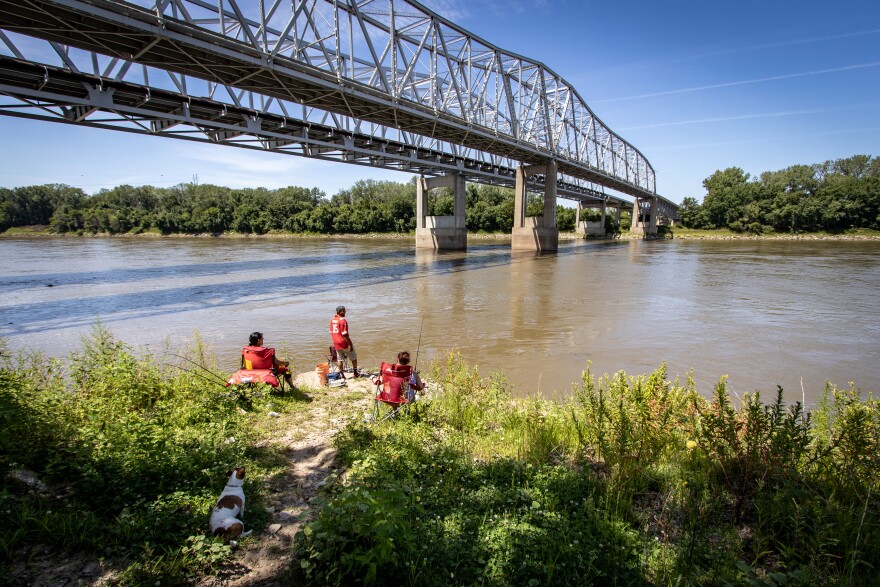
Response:
[[[703,182],[702,203],[682,201],[686,228],[736,233],[798,234],[880,229],[880,158],[855,155],[813,165],[794,165],[752,177],[738,167]],[[436,190],[428,213],[452,214],[452,194]],[[318,188],[231,189],[180,184],[171,188],[119,186],[87,195],[66,185],[0,188],[0,231],[43,225],[58,234],[364,234],[415,229],[414,181],[358,181],[328,197]],[[529,215],[542,214],[538,196]],[[586,211],[593,218],[596,211]],[[557,207],[561,231],[574,230],[575,211]],[[629,223],[629,211],[621,226]],[[467,229],[509,233],[513,192],[467,187]],[[609,227],[615,230],[617,227]]]

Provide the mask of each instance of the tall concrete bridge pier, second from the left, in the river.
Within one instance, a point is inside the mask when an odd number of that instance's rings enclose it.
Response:
[[[526,216],[528,190],[526,180],[534,173],[544,174],[544,216]],[[513,194],[513,232],[510,246],[519,251],[556,251],[559,229],[556,227],[556,162],[519,166]]]

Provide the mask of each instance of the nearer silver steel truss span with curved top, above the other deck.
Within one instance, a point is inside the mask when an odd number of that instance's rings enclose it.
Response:
[[[656,193],[565,80],[411,0],[0,0],[0,27]]]

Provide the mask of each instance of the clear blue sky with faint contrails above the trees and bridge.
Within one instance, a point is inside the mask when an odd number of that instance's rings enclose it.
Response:
[[[426,0],[574,86],[657,172],[701,200],[703,180],[855,154],[880,156],[877,0]],[[0,117],[0,186],[123,183],[318,187],[409,176],[286,155]]]

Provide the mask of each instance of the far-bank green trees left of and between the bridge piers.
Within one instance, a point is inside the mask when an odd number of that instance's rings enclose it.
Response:
[[[0,231],[47,225],[57,233],[363,234],[415,230],[415,182],[358,181],[328,198],[317,188],[231,189],[181,184],[172,188],[119,186],[94,196],[65,185],[0,188]],[[452,214],[450,190],[432,191],[428,212]],[[529,215],[541,215],[537,197]],[[557,207],[560,230],[574,230],[575,211]],[[467,186],[467,228],[510,232],[513,190]]]

